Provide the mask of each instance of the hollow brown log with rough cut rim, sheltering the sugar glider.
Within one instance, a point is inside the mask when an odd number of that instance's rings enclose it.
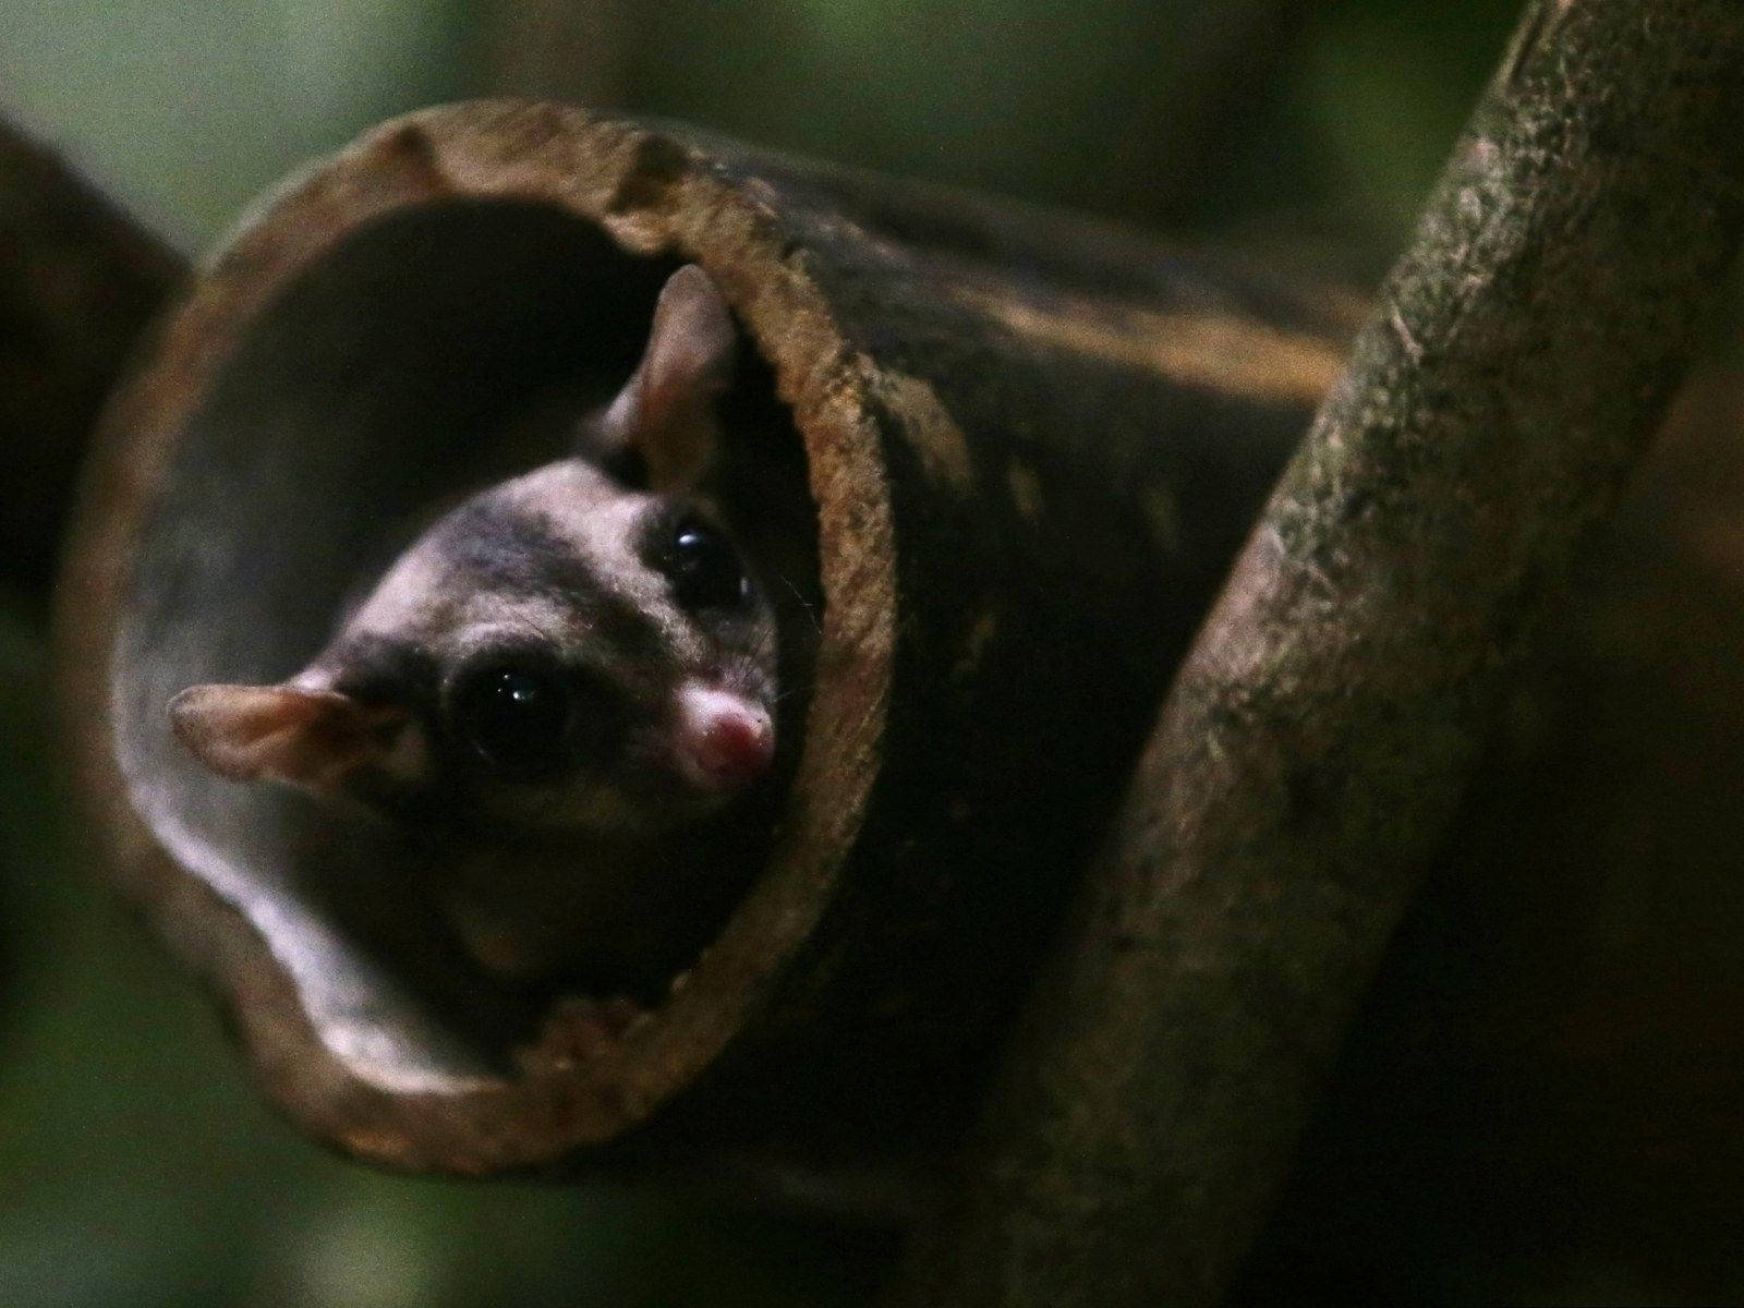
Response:
[[[504,419],[621,380],[684,260],[804,443],[821,647],[767,867],[602,1038],[467,975],[371,828],[199,771],[166,703],[290,673],[384,525],[539,462]],[[267,1093],[340,1149],[849,1193],[956,1139],[1352,323],[1123,230],[687,129],[399,119],[256,211],[108,410],[58,624],[82,794]]]

